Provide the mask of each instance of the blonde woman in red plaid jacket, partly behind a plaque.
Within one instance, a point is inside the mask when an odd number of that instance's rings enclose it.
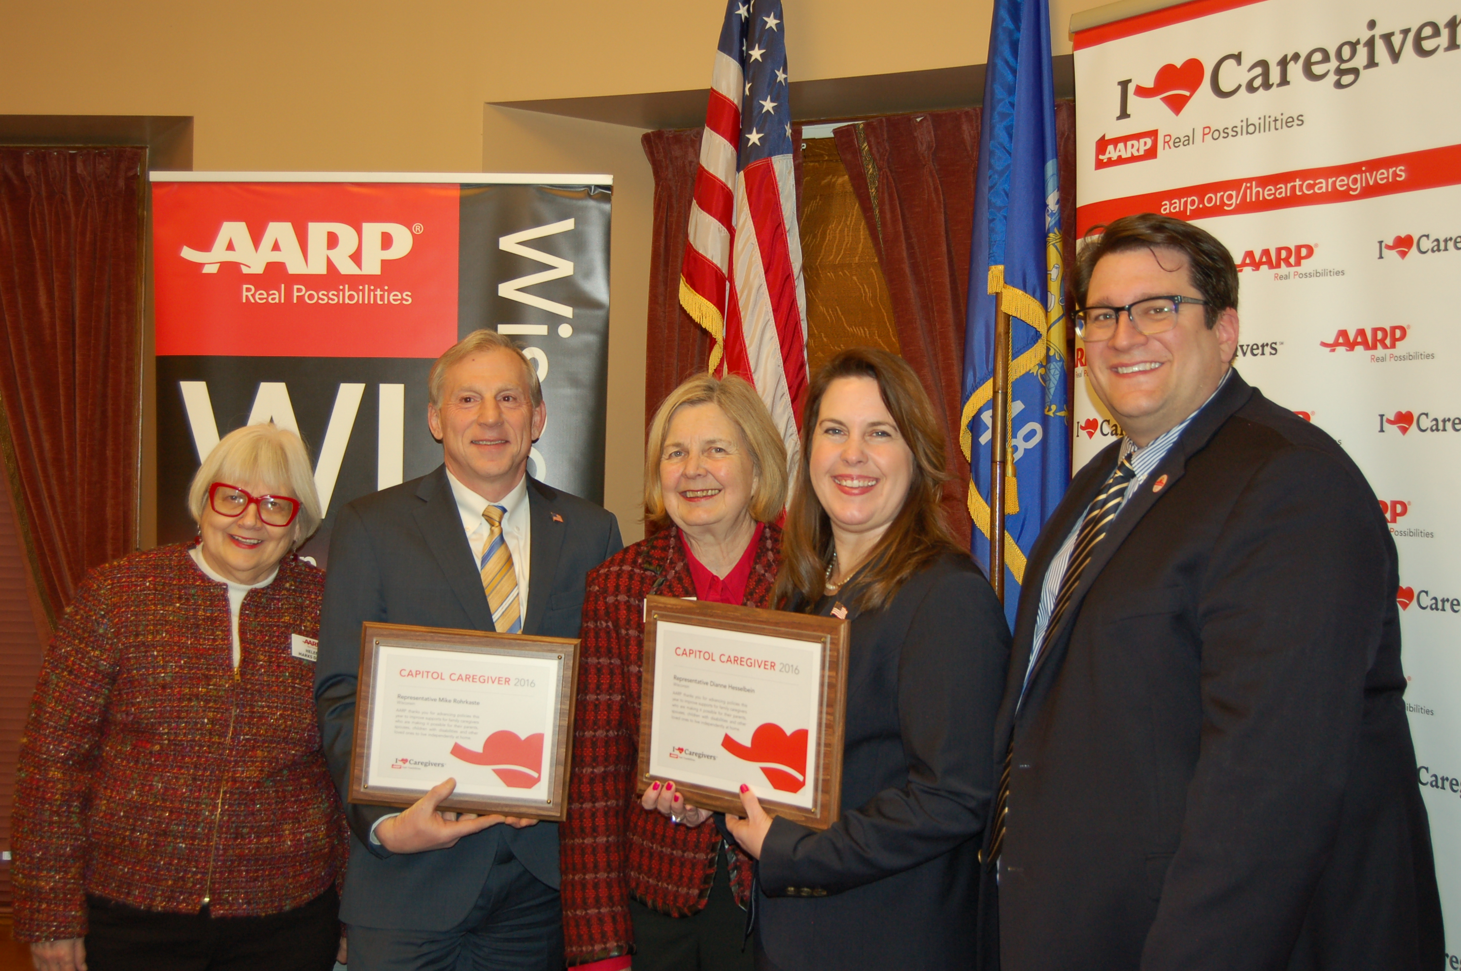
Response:
[[[560,826],[562,930],[580,971],[751,968],[742,949],[754,861],[672,786],[634,794],[644,597],[771,606],[786,447],[755,390],[697,375],[650,423],[649,539],[589,574],[568,818]],[[657,802],[672,809],[656,810]]]

